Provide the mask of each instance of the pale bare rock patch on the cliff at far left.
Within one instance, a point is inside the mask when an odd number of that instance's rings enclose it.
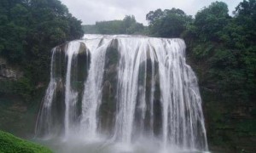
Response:
[[[0,79],[18,80],[23,72],[8,65],[7,61],[0,57]]]

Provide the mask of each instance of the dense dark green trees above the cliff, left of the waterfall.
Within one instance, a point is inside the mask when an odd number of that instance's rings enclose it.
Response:
[[[34,83],[49,76],[51,48],[83,36],[81,21],[59,0],[3,0],[0,12],[0,55],[32,73],[26,77]]]

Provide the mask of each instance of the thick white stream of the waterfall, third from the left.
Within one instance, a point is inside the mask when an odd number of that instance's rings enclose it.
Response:
[[[82,100],[81,131],[84,136],[95,139],[97,136],[97,114],[102,100],[102,79],[104,71],[105,50],[110,40],[101,39],[87,41],[86,46],[91,51],[91,63],[89,75],[84,82],[84,96]]]

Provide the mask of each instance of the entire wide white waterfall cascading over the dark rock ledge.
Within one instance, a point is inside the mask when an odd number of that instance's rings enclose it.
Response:
[[[184,51],[181,39],[123,35],[85,35],[55,47],[36,136],[102,142],[102,152],[207,151],[201,96]]]

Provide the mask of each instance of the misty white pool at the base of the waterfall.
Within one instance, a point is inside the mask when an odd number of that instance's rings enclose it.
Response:
[[[136,143],[122,144],[107,139],[61,139],[36,140],[48,146],[55,153],[210,153],[209,151],[180,149],[177,146],[163,148],[160,141],[139,139]]]

